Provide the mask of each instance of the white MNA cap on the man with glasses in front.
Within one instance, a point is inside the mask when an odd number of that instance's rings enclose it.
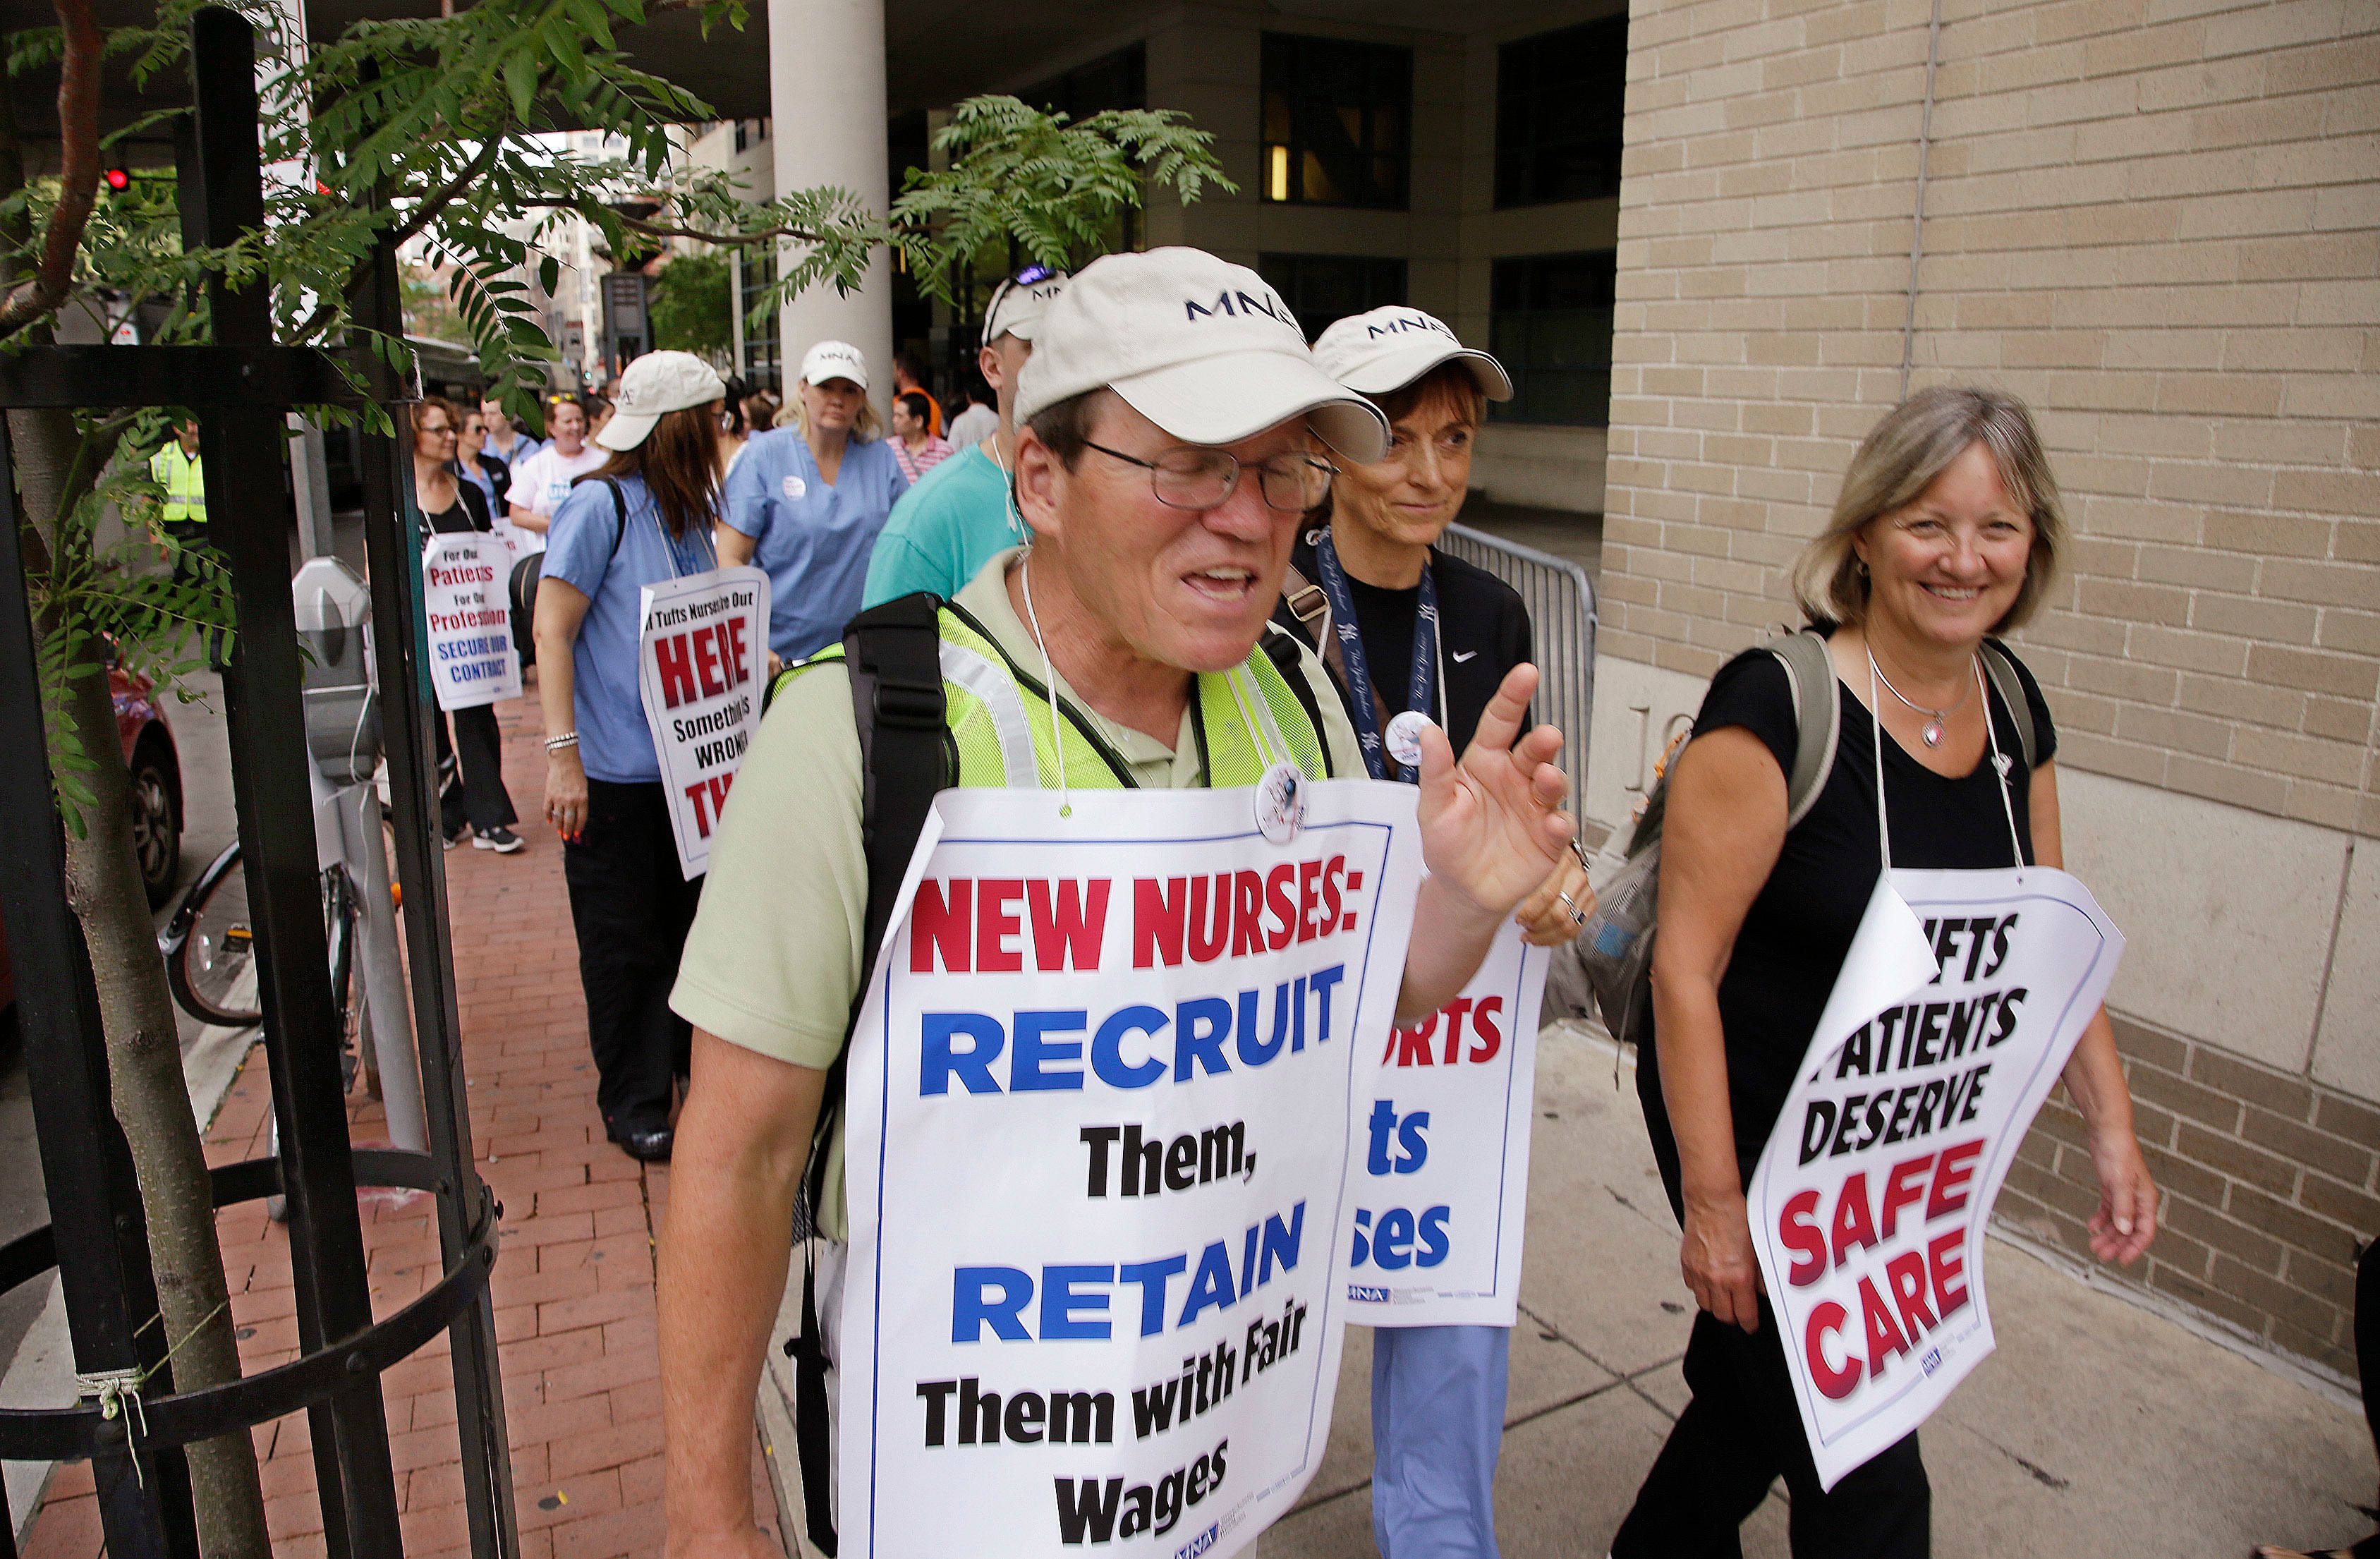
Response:
[[[1183,443],[1240,443],[1304,417],[1347,459],[1388,450],[1388,419],[1314,367],[1280,293],[1204,250],[1107,255],[1076,271],[1016,376],[1016,421],[1102,388]]]

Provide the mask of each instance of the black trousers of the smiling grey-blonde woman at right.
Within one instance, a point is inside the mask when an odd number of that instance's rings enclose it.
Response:
[[[1761,1328],[1749,1335],[1709,1311],[1695,1316],[1685,1383],[1695,1400],[1611,1540],[1614,1559],[1740,1559],[1737,1528],[1778,1476],[1792,1492],[1795,1559],[1923,1559],[1930,1552],[1933,1485],[1916,1435],[1844,1476],[1833,1492],[1818,1488],[1768,1300],[1761,1300]]]

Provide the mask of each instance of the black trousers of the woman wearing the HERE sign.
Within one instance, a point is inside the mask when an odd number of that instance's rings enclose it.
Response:
[[[662,785],[588,781],[588,821],[562,843],[588,993],[595,1107],[609,1135],[669,1126],[671,1083],[693,1028],[669,1009],[702,878],[678,876]]]

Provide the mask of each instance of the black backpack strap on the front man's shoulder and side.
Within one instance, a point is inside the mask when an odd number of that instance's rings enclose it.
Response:
[[[869,862],[869,907],[859,943],[859,988],[845,1023],[843,1050],[826,1069],[819,1126],[795,1202],[795,1238],[804,1240],[802,1331],[785,1342],[793,1357],[793,1440],[802,1469],[802,1516],[812,1545],[833,1559],[835,1507],[828,1488],[826,1345],[819,1328],[819,1276],[807,1235],[826,1195],[826,1150],[843,1119],[850,1031],[876,978],[876,954],[892,923],[892,900],[909,874],[916,835],[933,797],[957,776],[957,750],[942,697],[942,602],[931,593],[869,607],[843,628],[843,659],[852,678],[852,724],[859,733],[859,838]]]

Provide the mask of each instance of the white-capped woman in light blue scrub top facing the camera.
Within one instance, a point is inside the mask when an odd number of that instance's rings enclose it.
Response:
[[[847,340],[821,340],[802,355],[793,426],[757,433],[728,471],[719,562],[769,574],[769,650],[785,664],[843,633],[876,533],[909,490],[878,433],[866,357]]]

